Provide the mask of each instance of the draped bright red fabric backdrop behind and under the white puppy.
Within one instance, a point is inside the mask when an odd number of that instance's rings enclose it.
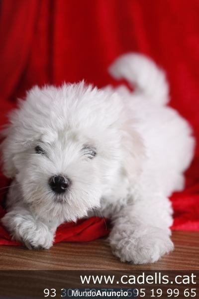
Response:
[[[82,79],[98,87],[116,84],[108,65],[138,51],[166,70],[171,106],[189,120],[199,140],[199,0],[2,0],[0,41],[0,125],[31,86]],[[198,169],[197,144],[187,188],[172,196],[173,229],[199,230]],[[6,184],[2,177],[1,187]],[[78,234],[74,225],[68,232],[62,228],[56,240],[70,240],[72,231],[73,241],[107,233],[103,221],[88,221],[83,230],[85,223],[79,224]]]

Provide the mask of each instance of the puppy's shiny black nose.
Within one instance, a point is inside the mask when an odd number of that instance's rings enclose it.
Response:
[[[63,193],[70,186],[71,181],[66,176],[53,175],[49,179],[49,185],[51,189],[56,193]]]

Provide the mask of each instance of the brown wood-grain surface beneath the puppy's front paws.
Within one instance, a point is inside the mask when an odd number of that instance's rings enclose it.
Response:
[[[175,250],[150,265],[130,265],[115,258],[103,239],[60,243],[50,250],[0,246],[0,270],[199,270],[199,233],[173,232]]]

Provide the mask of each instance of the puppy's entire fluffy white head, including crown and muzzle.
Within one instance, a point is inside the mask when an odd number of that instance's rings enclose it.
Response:
[[[122,189],[128,167],[137,167],[129,138],[134,153],[141,148],[129,128],[122,131],[121,115],[117,97],[81,84],[27,95],[10,117],[3,161],[38,216],[76,220],[99,207],[102,196]]]

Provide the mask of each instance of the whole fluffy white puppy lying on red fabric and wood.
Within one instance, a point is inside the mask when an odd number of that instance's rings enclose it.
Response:
[[[135,87],[34,87],[4,130],[4,174],[13,178],[2,223],[28,248],[50,248],[56,228],[99,211],[111,217],[121,261],[153,263],[173,249],[168,196],[184,185],[194,139],[166,106],[165,74],[138,54],[110,67]]]

